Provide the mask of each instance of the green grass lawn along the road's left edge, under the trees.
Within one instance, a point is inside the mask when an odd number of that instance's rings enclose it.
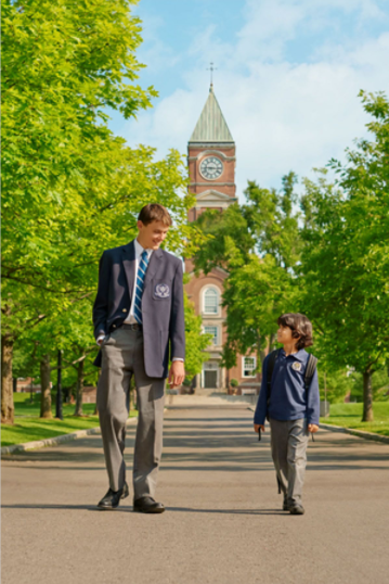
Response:
[[[76,418],[73,416],[74,404],[64,404],[63,420],[39,418],[40,395],[34,395],[30,403],[29,394],[14,393],[15,423],[14,426],[1,424],[1,446],[22,444],[48,437],[70,434],[77,430],[88,430],[99,426],[99,417],[93,416],[95,404],[85,404],[83,414],[86,417]],[[55,416],[55,405],[52,408]],[[131,411],[130,417],[138,416],[138,411]]]

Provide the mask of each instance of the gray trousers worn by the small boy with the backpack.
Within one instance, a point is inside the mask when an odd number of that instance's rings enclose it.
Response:
[[[270,419],[271,448],[278,486],[284,499],[301,505],[309,432],[307,420]]]

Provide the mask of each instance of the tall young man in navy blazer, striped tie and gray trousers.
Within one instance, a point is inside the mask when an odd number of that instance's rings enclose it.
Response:
[[[160,513],[154,499],[163,448],[164,390],[184,379],[185,326],[181,259],[159,246],[171,225],[165,207],[148,204],[138,217],[135,240],[106,250],[100,261],[93,306],[102,365],[98,408],[109,488],[100,509],[116,509],[129,495],[124,459],[129,386],[134,376],[138,428],[133,460],[133,509]]]

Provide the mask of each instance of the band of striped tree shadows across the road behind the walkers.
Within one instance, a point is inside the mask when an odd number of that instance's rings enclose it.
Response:
[[[132,465],[137,427],[127,430],[126,462]],[[4,462],[14,467],[28,461],[31,469],[101,470],[104,456],[100,435],[63,443],[28,453],[7,455]],[[388,468],[387,448],[372,452],[371,443],[355,436],[320,431],[309,443],[310,471],[380,470]],[[25,468],[25,467],[24,467]],[[272,469],[270,435],[262,441],[252,431],[251,417],[167,418],[164,431],[161,470],[258,472]]]

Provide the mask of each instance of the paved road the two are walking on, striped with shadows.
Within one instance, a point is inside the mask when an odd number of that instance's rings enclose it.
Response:
[[[386,584],[389,445],[321,431],[307,512],[280,510],[269,437],[239,407],[166,415],[161,516],[94,509],[99,435],[2,464],[3,584]],[[131,467],[134,427],[128,436]]]

